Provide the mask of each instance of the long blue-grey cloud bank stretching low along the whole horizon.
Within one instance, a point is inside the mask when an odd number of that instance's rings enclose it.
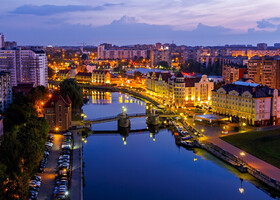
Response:
[[[28,21],[33,16],[22,16],[22,21]],[[34,17],[33,17],[34,18]],[[64,20],[56,20],[55,25],[46,25],[40,17],[36,24],[16,26],[18,20],[11,25],[5,25],[5,19],[0,18],[1,31],[7,40],[17,41],[20,45],[74,45],[81,42],[88,45],[98,45],[104,42],[116,45],[154,44],[156,42],[196,46],[225,44],[256,44],[266,42],[273,44],[279,40],[280,25],[273,31],[266,29],[249,29],[248,32],[236,33],[231,28],[209,26],[198,23],[191,31],[174,30],[169,25],[150,25],[140,23],[137,19],[123,16],[113,20],[108,25],[93,27],[91,25],[70,24]],[[21,23],[20,23],[21,24]],[[22,23],[24,24],[24,22]],[[18,34],[18,33],[21,34]]]

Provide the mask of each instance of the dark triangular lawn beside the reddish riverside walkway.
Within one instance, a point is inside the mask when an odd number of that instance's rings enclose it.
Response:
[[[221,139],[280,168],[280,129],[251,131]]]

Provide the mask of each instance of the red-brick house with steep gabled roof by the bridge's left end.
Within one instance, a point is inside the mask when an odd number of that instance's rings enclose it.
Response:
[[[44,117],[51,131],[66,131],[71,127],[71,100],[60,94],[53,94],[44,105]]]

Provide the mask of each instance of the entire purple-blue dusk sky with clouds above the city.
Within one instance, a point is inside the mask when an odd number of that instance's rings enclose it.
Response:
[[[19,44],[280,42],[279,0],[1,0],[0,32]]]

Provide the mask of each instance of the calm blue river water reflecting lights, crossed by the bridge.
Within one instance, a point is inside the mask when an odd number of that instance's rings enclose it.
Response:
[[[128,114],[145,112],[144,102],[125,94],[93,92],[89,99],[83,107],[88,119],[116,116],[122,106]],[[131,120],[131,130],[145,128],[145,118]],[[256,187],[263,185],[252,176],[203,150],[178,147],[167,129],[155,135],[135,132],[127,138],[110,133],[117,130],[117,122],[92,129],[105,134],[90,135],[84,144],[86,200],[273,199]]]

